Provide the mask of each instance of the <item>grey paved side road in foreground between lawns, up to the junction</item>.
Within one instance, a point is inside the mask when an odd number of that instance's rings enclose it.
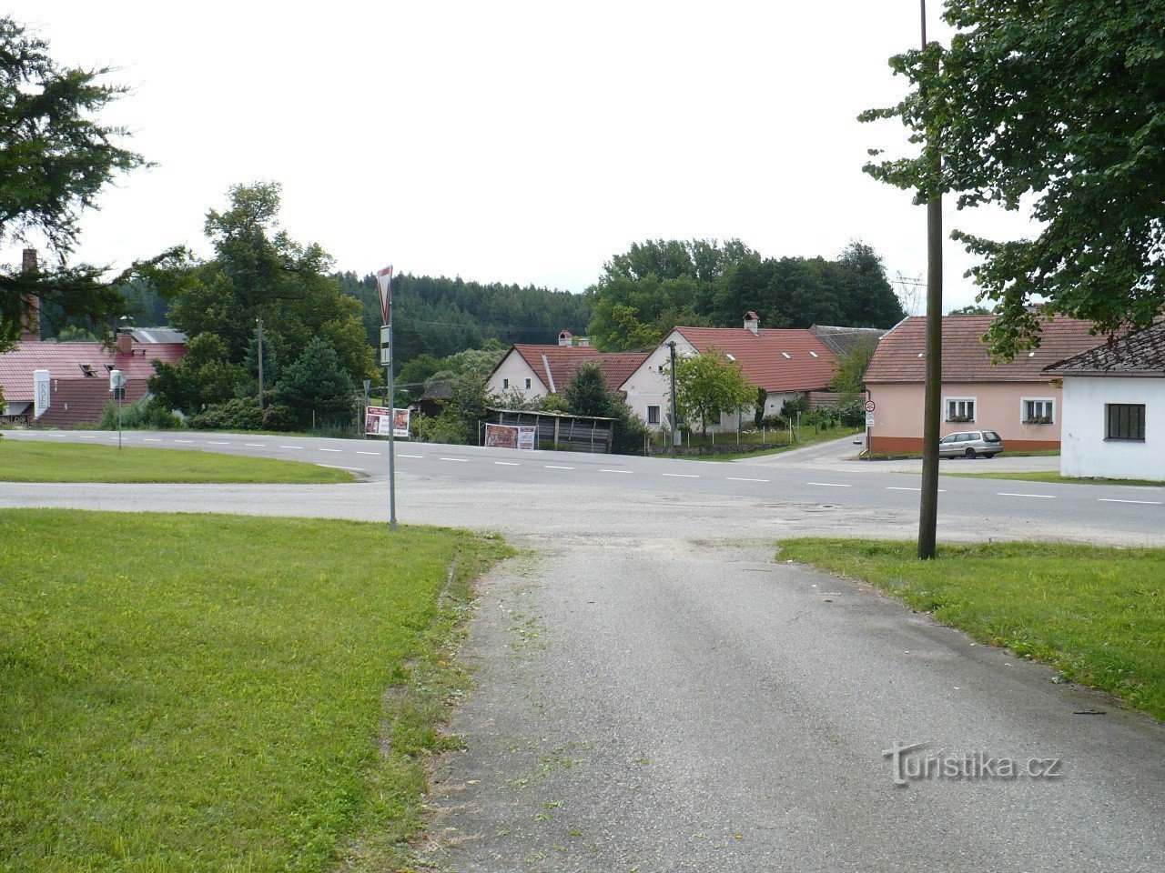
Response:
[[[1165,870],[1160,724],[763,549],[528,542],[473,624],[440,867]],[[896,740],[1062,776],[899,787]]]

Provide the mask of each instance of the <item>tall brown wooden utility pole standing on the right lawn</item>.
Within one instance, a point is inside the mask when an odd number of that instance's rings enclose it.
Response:
[[[926,50],[926,0],[922,2],[923,51]],[[926,100],[926,84],[919,85]],[[938,185],[942,171],[938,136],[927,122],[924,159],[929,180]],[[923,482],[918,516],[918,558],[934,558],[939,521],[939,421],[942,412],[942,197],[926,199],[926,396],[923,402]]]

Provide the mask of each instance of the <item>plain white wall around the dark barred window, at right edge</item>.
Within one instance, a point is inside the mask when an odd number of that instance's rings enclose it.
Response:
[[[1145,441],[1104,439],[1104,404],[1143,403]],[[1076,376],[1064,379],[1060,473],[1165,481],[1165,379]]]

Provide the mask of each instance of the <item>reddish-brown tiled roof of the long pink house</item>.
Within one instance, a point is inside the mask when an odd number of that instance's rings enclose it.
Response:
[[[982,338],[994,315],[947,315],[942,319],[944,382],[1045,382],[1044,368],[1086,352],[1100,342],[1092,322],[1072,318],[1045,320],[1040,347],[1021,352],[1011,361],[995,362]],[[925,382],[926,317],[898,324],[877,343],[866,370],[866,383]]]

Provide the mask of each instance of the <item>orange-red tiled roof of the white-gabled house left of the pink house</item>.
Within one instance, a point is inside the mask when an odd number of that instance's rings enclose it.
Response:
[[[834,376],[838,356],[809,331],[747,327],[677,327],[701,354],[732,355],[744,377],[765,391],[813,391]],[[788,356],[786,356],[788,355]]]

